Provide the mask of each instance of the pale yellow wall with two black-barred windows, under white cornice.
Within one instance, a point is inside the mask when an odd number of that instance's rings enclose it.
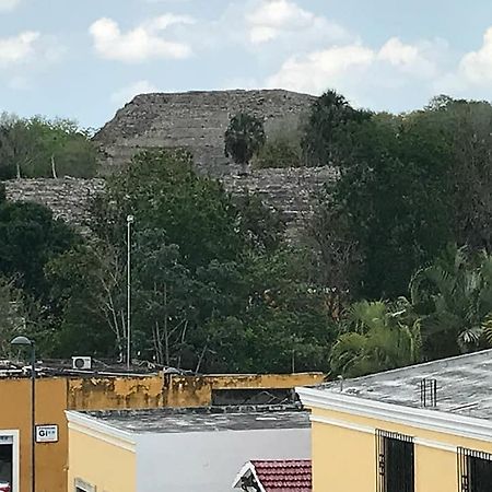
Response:
[[[492,453],[492,443],[425,431],[410,425],[313,409],[313,415],[337,422],[399,432],[449,446]],[[362,431],[313,422],[314,492],[374,492],[376,485],[375,436]],[[415,445],[415,492],[454,492],[457,456],[450,450]]]

